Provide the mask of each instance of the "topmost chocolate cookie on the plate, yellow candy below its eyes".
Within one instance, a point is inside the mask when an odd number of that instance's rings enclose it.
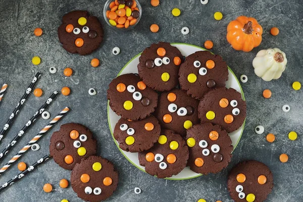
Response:
[[[170,43],[151,44],[139,58],[139,76],[146,85],[155,90],[171,90],[178,85],[181,59],[183,56],[179,49]]]

